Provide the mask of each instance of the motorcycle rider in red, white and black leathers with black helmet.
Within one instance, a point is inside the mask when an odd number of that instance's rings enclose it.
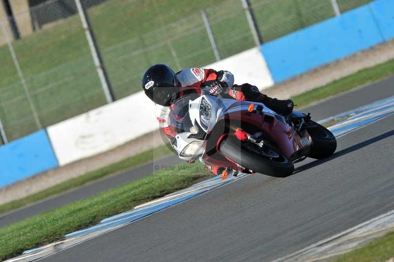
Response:
[[[168,110],[163,110],[163,108],[171,108],[177,99],[193,94],[209,94],[222,98],[262,102],[282,115],[289,115],[294,107],[292,100],[270,98],[260,93],[256,86],[247,83],[234,85],[234,76],[225,70],[187,67],[175,73],[169,66],[158,64],[146,70],[142,77],[142,88],[145,94],[156,103],[157,119],[169,139],[175,136],[175,132],[166,122]],[[211,168],[211,170],[214,171],[217,168]]]

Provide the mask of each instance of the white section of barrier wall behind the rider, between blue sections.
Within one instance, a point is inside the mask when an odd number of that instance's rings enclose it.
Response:
[[[230,70],[237,83],[273,84],[263,56],[252,48],[212,65]],[[248,80],[249,79],[249,80]],[[154,103],[141,91],[48,128],[59,164],[91,157],[159,128]]]

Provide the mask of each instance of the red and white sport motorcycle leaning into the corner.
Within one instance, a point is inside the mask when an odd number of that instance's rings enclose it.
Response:
[[[324,159],[336,149],[334,135],[293,111],[282,116],[260,102],[203,95],[177,101],[170,119],[171,146],[180,159],[221,166],[223,173],[262,173],[285,177],[307,157]]]

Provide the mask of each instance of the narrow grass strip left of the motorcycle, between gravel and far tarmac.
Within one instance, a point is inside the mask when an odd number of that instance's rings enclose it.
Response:
[[[167,155],[169,153],[170,153],[170,150],[165,145],[145,151],[145,152],[142,152],[138,155],[129,157],[129,158],[119,161],[117,163],[110,164],[108,166],[88,172],[84,175],[66,180],[63,183],[60,183],[56,186],[50,187],[48,189],[45,189],[45,190],[35,193],[33,195],[2,204],[2,205],[0,205],[0,214],[11,211],[13,209],[19,208],[24,205],[31,204],[36,201],[42,200],[46,197],[51,197],[56,194],[60,194],[62,192],[65,192],[67,190],[85,185],[89,182],[100,179],[104,176],[119,173],[119,172],[129,169],[131,167],[148,163],[156,158],[162,157],[162,156]]]

